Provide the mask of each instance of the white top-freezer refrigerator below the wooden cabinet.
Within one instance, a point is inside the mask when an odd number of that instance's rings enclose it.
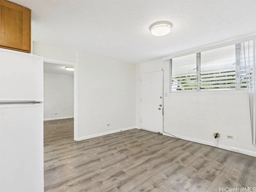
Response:
[[[43,57],[0,48],[0,192],[44,191]]]

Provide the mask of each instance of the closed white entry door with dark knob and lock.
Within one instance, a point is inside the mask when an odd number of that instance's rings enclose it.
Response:
[[[163,72],[141,75],[141,128],[163,132]]]

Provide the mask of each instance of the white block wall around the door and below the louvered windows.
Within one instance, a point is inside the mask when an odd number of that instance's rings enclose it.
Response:
[[[164,69],[164,131],[184,140],[217,146],[213,133],[220,133],[218,147],[256,156],[250,128],[249,96],[246,91],[171,92],[169,62],[157,60],[136,66],[136,126],[140,126],[140,75]],[[139,85],[138,85],[139,84]],[[165,134],[170,136],[169,134]],[[233,139],[226,135],[234,136]]]

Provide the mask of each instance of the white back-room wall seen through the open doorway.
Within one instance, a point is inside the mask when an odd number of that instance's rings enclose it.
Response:
[[[73,116],[74,76],[44,73],[44,120]]]

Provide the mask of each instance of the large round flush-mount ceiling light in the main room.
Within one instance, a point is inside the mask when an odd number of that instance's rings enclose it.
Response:
[[[161,21],[153,24],[150,30],[154,36],[164,36],[170,33],[171,28],[172,27],[169,22]]]

